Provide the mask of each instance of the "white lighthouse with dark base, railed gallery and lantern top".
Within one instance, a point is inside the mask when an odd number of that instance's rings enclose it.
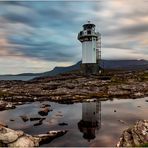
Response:
[[[82,43],[82,71],[86,74],[97,74],[101,60],[101,34],[95,31],[95,24],[88,21],[78,33]]]

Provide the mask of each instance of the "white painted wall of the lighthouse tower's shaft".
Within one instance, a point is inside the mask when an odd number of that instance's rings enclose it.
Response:
[[[82,43],[82,63],[96,63],[96,41]]]

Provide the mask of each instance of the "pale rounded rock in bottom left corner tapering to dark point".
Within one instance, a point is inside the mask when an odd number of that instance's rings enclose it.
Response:
[[[5,147],[37,147],[63,136],[67,131],[49,131],[46,134],[28,135],[23,131],[15,131],[0,127],[0,146]]]

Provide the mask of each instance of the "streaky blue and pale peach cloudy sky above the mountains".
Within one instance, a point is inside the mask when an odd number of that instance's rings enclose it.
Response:
[[[103,59],[148,60],[148,0],[0,1],[0,74],[77,63],[87,21],[102,35]]]

